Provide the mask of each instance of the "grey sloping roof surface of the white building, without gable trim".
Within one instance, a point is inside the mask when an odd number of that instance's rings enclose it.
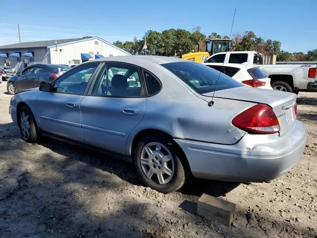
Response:
[[[10,45],[0,46],[0,49],[14,49],[14,48],[21,49],[21,48],[48,47],[48,46],[51,46],[51,45],[55,45],[55,42],[57,42],[57,44],[62,44],[62,43],[68,43],[68,42],[83,40],[83,39],[89,39],[89,38],[91,38],[91,37],[62,39],[62,40],[50,40],[50,41],[22,42],[22,43],[15,43],[15,44],[10,44]]]

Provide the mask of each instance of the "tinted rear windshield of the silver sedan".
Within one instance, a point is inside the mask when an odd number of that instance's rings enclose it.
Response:
[[[201,63],[173,62],[161,65],[199,94],[243,86],[229,76]]]

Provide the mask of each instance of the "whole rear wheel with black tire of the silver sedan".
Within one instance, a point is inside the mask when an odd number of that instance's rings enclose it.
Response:
[[[148,149],[153,154],[149,155]],[[168,193],[178,190],[188,178],[188,171],[184,169],[186,167],[183,163],[186,158],[183,158],[183,153],[177,144],[167,136],[144,136],[137,142],[133,155],[141,180],[146,186],[159,192]]]

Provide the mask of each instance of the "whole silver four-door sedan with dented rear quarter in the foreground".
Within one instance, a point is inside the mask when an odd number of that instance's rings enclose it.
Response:
[[[306,142],[295,94],[176,58],[91,60],[13,96],[9,111],[25,141],[51,136],[129,159],[164,193],[191,175],[269,181],[298,162]]]

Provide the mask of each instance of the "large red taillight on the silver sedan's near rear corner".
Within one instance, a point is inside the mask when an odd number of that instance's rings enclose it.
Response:
[[[257,104],[240,113],[232,120],[232,124],[248,132],[271,134],[280,131],[273,110],[264,104]]]

